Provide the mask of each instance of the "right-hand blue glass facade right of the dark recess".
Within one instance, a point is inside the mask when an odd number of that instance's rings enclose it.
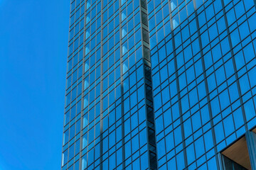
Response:
[[[255,1],[148,1],[159,169],[220,169],[256,125]]]

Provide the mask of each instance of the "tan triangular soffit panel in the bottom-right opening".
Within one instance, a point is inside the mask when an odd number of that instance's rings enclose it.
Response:
[[[244,166],[246,169],[251,169],[245,137],[242,137],[238,142],[235,142],[233,145],[225,149],[222,154],[229,159],[232,159],[234,162]]]

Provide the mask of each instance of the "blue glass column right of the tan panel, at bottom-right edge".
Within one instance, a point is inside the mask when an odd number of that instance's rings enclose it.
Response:
[[[247,131],[245,133],[245,138],[252,170],[256,170],[256,134],[255,132]]]

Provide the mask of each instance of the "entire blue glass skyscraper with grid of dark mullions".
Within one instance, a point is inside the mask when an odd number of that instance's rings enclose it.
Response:
[[[72,0],[62,169],[255,169],[255,5]]]

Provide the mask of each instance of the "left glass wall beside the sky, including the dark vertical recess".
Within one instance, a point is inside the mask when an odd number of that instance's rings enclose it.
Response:
[[[71,1],[62,169],[155,169],[146,1]]]

